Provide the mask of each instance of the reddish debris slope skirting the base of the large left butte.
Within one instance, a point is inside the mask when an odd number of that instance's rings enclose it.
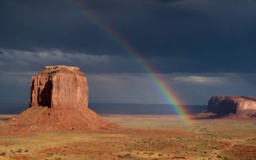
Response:
[[[33,106],[17,116],[10,118],[4,124],[5,127],[17,129],[26,128],[33,130],[52,129],[109,129],[115,124],[97,115],[88,108],[81,109],[51,109],[42,106]]]

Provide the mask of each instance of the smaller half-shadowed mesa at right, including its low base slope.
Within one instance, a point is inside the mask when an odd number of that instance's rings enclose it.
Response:
[[[208,102],[207,111],[196,116],[253,119],[256,118],[256,97],[214,96]]]

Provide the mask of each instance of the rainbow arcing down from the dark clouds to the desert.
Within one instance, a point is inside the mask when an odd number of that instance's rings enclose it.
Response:
[[[92,13],[88,12],[83,4],[79,3],[79,1],[74,0],[60,0],[61,3],[65,4],[68,8],[72,8],[72,10],[79,13],[79,15],[83,16],[86,20],[91,22],[94,26],[100,29],[105,35],[107,35],[113,42],[119,45],[129,56],[131,56],[140,67],[148,73],[151,82],[154,84],[153,86],[156,90],[159,91],[161,96],[164,98],[167,104],[170,104],[172,109],[176,114],[180,115],[181,120],[188,121],[188,112],[184,109],[180,104],[182,104],[182,100],[179,98],[177,93],[170,88],[170,86],[164,81],[164,79],[156,74],[156,70],[152,68],[144,58],[142,58],[136,49],[134,49],[131,44],[127,43],[124,38],[118,35],[115,30],[108,26],[108,24],[104,23],[99,17],[96,17]]]

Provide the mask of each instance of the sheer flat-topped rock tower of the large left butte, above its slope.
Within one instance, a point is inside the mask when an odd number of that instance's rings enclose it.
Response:
[[[46,66],[31,78],[29,107],[88,108],[88,83],[78,67]]]

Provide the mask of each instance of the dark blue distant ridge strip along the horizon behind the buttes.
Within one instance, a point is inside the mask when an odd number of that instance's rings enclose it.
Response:
[[[28,108],[29,104],[1,104],[1,114],[18,114]],[[177,115],[168,104],[121,104],[121,103],[89,103],[88,108],[97,114],[119,115]],[[191,115],[207,109],[206,105],[186,105]]]

